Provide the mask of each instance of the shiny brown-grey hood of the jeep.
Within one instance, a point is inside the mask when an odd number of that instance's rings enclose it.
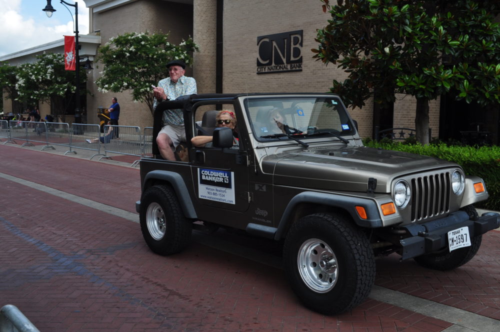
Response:
[[[314,189],[366,191],[368,178],[377,180],[376,192],[390,192],[401,175],[457,164],[418,154],[371,147],[318,147],[268,155],[262,170],[273,173],[277,185]]]

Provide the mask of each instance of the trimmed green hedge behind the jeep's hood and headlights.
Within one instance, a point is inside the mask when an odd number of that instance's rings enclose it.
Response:
[[[462,166],[465,174],[479,176],[486,184],[489,198],[475,204],[476,207],[500,210],[500,146],[459,146],[445,143],[421,145],[391,140],[376,142],[371,139],[364,139],[363,142],[370,147],[428,155],[456,162]]]

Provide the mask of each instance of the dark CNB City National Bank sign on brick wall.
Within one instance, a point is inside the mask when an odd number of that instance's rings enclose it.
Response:
[[[302,70],[302,30],[257,37],[257,74]]]

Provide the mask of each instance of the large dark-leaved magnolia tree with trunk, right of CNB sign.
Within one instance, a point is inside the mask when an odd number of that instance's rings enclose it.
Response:
[[[331,91],[349,105],[416,98],[416,138],[428,142],[429,100],[449,93],[500,102],[498,0],[321,0],[332,19],[317,30],[314,58],[349,73]]]

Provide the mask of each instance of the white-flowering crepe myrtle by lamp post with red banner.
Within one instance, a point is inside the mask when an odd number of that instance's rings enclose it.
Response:
[[[24,101],[28,105],[37,105],[39,101],[50,102],[54,106],[56,115],[65,121],[66,108],[69,104],[64,102],[64,97],[74,98],[75,71],[64,69],[62,53],[43,53],[36,55],[36,59],[35,62],[18,66],[15,99]],[[83,68],[80,70],[79,78],[82,86],[87,79]],[[80,91],[86,93],[85,89],[80,88]]]

